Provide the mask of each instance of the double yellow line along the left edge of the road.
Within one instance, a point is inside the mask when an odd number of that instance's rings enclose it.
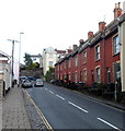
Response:
[[[48,131],[54,131],[52,126],[48,123],[48,121],[46,120],[45,116],[42,114],[41,109],[36,106],[36,104],[34,103],[34,100],[31,98],[30,94],[27,93],[27,91],[25,91],[27,98],[31,100],[31,103],[34,105],[34,107],[37,110],[37,114],[39,115],[41,119],[44,121],[46,128]]]

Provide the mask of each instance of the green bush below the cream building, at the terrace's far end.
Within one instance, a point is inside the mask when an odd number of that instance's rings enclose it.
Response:
[[[49,82],[52,79],[55,78],[54,72],[55,72],[55,68],[49,67],[49,70],[45,74],[45,79],[46,79],[47,82]]]

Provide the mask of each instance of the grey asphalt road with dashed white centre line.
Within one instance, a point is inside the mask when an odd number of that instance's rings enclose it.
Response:
[[[52,84],[27,88],[53,129],[123,129],[123,111]]]

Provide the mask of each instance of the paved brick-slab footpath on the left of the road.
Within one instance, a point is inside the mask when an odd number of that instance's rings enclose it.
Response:
[[[12,87],[2,100],[2,129],[31,129],[21,87]]]

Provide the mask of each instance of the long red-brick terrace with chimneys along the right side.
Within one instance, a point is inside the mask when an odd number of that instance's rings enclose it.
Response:
[[[115,4],[114,20],[99,23],[99,31],[88,33],[88,39],[55,64],[55,76],[63,82],[83,82],[88,86],[103,83],[106,87],[121,84],[121,32],[125,22],[120,3]],[[123,41],[124,43],[124,41]]]

